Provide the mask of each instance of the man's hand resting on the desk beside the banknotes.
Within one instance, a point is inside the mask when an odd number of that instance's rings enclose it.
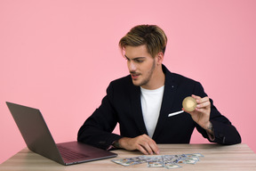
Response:
[[[118,140],[119,147],[127,151],[141,151],[143,154],[159,154],[160,151],[156,142],[152,140],[147,134],[142,134],[135,138],[123,137]]]

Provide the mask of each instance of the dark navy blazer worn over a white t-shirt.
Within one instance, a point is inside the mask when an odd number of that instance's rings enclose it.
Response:
[[[153,140],[156,143],[189,143],[191,134],[196,127],[197,131],[212,142],[206,131],[196,124],[191,116],[184,112],[180,115],[168,117],[175,111],[182,109],[185,97],[195,94],[207,96],[203,86],[188,77],[171,73],[163,65],[165,74],[164,96]],[[211,102],[211,115],[215,140],[221,144],[235,144],[241,142],[240,134],[232,126],[228,118],[220,112]],[[112,134],[119,123],[120,135]],[[131,76],[122,77],[108,85],[107,95],[103,98],[100,107],[87,118],[78,132],[77,140],[93,146],[108,149],[108,147],[121,137],[136,137],[148,134],[144,124],[141,104],[140,86],[132,84]]]

